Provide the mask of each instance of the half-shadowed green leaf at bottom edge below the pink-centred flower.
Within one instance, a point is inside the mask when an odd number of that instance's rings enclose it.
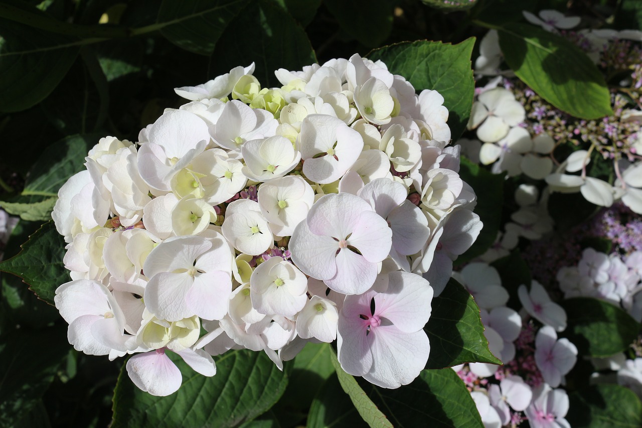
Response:
[[[422,370],[410,385],[397,389],[366,383],[360,382],[395,427],[483,427],[471,393],[450,368]]]

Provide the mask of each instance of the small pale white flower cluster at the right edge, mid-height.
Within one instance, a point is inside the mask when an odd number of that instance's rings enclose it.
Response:
[[[642,252],[635,251],[622,260],[587,248],[577,266],[557,272],[564,298],[593,297],[609,301],[642,321]]]

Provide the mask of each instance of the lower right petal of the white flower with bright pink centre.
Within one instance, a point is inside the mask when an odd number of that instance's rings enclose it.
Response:
[[[424,330],[401,332],[395,326],[378,326],[370,331],[372,367],[363,379],[383,388],[410,384],[426,366],[430,342]]]

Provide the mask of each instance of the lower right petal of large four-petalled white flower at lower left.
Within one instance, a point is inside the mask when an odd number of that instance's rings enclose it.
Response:
[[[221,319],[227,314],[232,280],[227,272],[214,271],[194,276],[185,295],[187,308],[203,319]]]

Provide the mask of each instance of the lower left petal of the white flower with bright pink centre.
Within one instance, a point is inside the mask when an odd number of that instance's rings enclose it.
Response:
[[[346,373],[362,376],[372,367],[372,353],[366,335],[366,324],[360,317],[339,314],[336,332],[337,357]]]

